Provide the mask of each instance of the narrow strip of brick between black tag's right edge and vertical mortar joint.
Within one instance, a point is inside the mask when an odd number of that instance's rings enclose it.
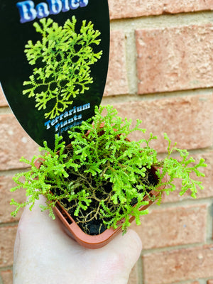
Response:
[[[104,96],[128,94],[125,36],[123,31],[111,31],[109,70]]]

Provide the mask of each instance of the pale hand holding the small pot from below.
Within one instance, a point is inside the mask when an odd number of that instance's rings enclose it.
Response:
[[[85,249],[65,233],[58,218],[40,212],[37,202],[32,212],[24,210],[18,224],[13,284],[126,284],[141,247],[129,229],[101,249]]]

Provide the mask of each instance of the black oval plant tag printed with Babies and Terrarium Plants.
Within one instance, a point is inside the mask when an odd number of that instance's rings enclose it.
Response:
[[[109,62],[107,0],[1,0],[0,82],[35,142],[94,115]]]

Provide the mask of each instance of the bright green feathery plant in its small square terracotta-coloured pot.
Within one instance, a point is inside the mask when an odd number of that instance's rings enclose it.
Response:
[[[16,205],[12,216],[26,205],[32,209],[35,200],[44,195],[46,204],[41,209],[49,210],[53,219],[58,214],[80,244],[95,249],[119,231],[125,233],[133,219],[139,225],[150,204],[160,203],[163,192],[176,189],[176,178],[182,180],[180,195],[191,190],[195,198],[197,188],[203,187],[191,173],[204,176],[199,170],[207,166],[204,159],[195,163],[186,150],[171,146],[166,134],[168,155],[158,159],[150,146],[157,139],[152,133],[148,139],[129,141],[129,134],[146,132],[140,124],[138,120],[131,126],[131,120],[121,119],[111,106],[96,107],[92,119],[69,131],[70,145],[65,146],[56,135],[54,150],[45,142],[40,148],[45,153],[31,161],[21,158],[31,169],[15,175],[17,186],[11,191],[26,189],[28,200],[21,204],[11,200]],[[178,158],[173,158],[174,152]]]

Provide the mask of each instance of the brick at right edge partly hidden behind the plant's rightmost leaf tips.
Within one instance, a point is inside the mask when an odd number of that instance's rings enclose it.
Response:
[[[204,178],[196,178],[196,180],[202,181],[202,185],[204,186],[204,190],[198,189],[197,191],[197,198],[207,198],[207,197],[213,197],[213,175],[212,175],[212,167],[213,167],[213,151],[210,151],[208,153],[201,153],[193,155],[195,160],[198,162],[200,158],[205,159],[205,163],[207,163],[207,168],[202,168],[202,173],[205,174]],[[180,196],[179,195],[179,189],[180,189],[180,182],[175,182],[175,185],[177,186],[177,191],[172,192],[170,195],[164,195],[163,202],[177,202],[181,200],[185,200],[190,197],[190,190],[185,193],[185,195]]]

